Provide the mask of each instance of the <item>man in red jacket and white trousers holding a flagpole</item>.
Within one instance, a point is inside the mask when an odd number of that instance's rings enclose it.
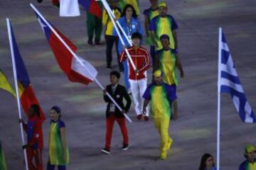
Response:
[[[140,120],[143,116],[142,109],[144,98],[142,98],[142,96],[147,85],[146,70],[149,69],[150,65],[149,53],[144,47],[139,45],[140,40],[142,40],[142,35],[140,33],[133,33],[133,46],[127,49],[136,67],[136,70],[134,71],[131,62],[129,62],[129,84],[131,86],[132,98],[134,100],[135,112],[137,113],[138,120]],[[123,51],[121,54],[120,62],[124,60],[127,60],[127,54],[125,51]],[[144,120],[149,120],[149,108],[146,108]]]

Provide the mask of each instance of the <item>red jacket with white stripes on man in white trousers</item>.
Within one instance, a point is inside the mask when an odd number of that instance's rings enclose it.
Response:
[[[132,57],[135,67],[137,70],[139,70],[139,74],[137,75],[136,72],[134,72],[131,62],[129,62],[129,79],[144,79],[144,72],[149,69],[149,53],[147,52],[146,48],[141,46],[139,46],[137,49],[134,49],[134,47],[129,47],[127,50]],[[127,60],[127,54],[125,51],[123,51],[121,54],[120,62],[124,60]]]

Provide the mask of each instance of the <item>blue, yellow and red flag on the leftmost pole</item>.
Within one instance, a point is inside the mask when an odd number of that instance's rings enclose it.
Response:
[[[11,27],[11,23],[10,23]],[[18,45],[16,39],[14,37],[14,32],[11,27],[11,46],[14,49],[14,58],[16,64],[16,73],[17,73],[17,81],[18,81],[18,93],[21,100],[21,105],[25,113],[28,114],[28,109],[32,104],[37,104],[39,106],[39,102],[36,98],[36,95],[33,92],[33,88],[31,86],[31,81],[28,77],[28,72],[26,70],[25,64],[22,60],[21,53],[18,50]],[[41,120],[45,120],[46,117],[43,114],[43,110],[40,108],[40,118]]]

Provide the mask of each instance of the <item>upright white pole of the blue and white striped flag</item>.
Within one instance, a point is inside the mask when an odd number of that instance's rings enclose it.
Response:
[[[218,115],[217,115],[217,170],[220,170],[220,62],[221,62],[222,28],[219,28],[218,42]]]

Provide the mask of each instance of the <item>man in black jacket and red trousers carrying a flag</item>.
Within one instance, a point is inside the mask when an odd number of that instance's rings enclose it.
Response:
[[[107,85],[107,88],[103,91],[104,100],[105,102],[107,102],[106,143],[105,143],[105,148],[102,149],[102,152],[104,152],[105,154],[110,154],[112,130],[113,130],[113,125],[115,120],[117,120],[117,123],[119,124],[119,127],[122,131],[122,136],[123,136],[122,149],[127,150],[129,147],[128,131],[127,131],[127,126],[125,124],[124,113],[127,113],[129,111],[132,101],[131,101],[131,98],[129,97],[129,94],[127,94],[125,87],[118,84],[119,79],[120,79],[119,72],[117,71],[110,72],[111,84]],[[112,96],[112,98],[114,98],[114,101],[118,103],[118,105],[122,108],[122,111],[119,111],[117,106],[114,106],[114,103],[112,103],[110,98],[107,96],[106,92],[108,92]],[[125,106],[123,103],[123,98],[127,101]]]

